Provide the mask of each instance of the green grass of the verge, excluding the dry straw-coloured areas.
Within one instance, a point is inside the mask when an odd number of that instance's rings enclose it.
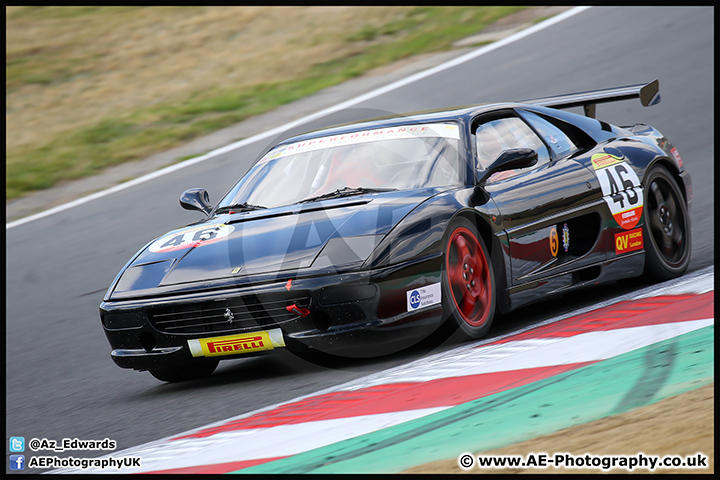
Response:
[[[231,88],[198,91],[181,102],[156,104],[123,117],[99,120],[90,128],[52,138],[45,145],[7,151],[6,199],[181,145],[372,68],[412,55],[447,50],[454,41],[522,8],[525,7],[415,8],[401,20],[348,32],[346,41],[354,46],[352,53],[315,64],[302,78],[241,91]],[[95,11],[88,8],[75,13],[92,15]],[[23,12],[38,16],[52,13]],[[62,12],[71,16],[70,12]],[[43,72],[37,59],[33,61],[31,64],[25,58],[6,59],[6,90],[19,83],[42,84],[56,80],[58,75],[76,72],[72,65],[53,65]]]

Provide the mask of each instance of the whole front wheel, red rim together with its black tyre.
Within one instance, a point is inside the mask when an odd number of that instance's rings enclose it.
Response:
[[[483,337],[495,313],[495,276],[482,237],[468,219],[448,228],[443,261],[443,311],[466,336]]]

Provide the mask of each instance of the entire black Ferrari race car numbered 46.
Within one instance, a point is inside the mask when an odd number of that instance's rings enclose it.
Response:
[[[682,275],[690,176],[596,105],[658,81],[338,126],[270,148],[204,219],[145,245],[100,305],[112,359],[174,382],[219,360],[368,357],[575,289]],[[568,112],[577,107],[584,115]]]

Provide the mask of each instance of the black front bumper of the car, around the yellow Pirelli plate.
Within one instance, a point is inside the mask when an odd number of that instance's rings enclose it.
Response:
[[[100,305],[100,314],[112,359],[122,368],[187,365],[203,358],[193,356],[190,349],[198,339],[245,338],[278,329],[290,350],[374,357],[407,348],[437,329],[443,320],[441,304],[408,311],[408,292],[440,281],[437,254],[370,271],[107,301]],[[272,348],[237,352],[228,347],[215,358],[271,352]]]

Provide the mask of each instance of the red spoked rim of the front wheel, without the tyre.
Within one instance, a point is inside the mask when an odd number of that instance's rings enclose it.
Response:
[[[450,235],[445,271],[458,313],[470,326],[480,327],[490,313],[490,269],[480,242],[464,227]]]

